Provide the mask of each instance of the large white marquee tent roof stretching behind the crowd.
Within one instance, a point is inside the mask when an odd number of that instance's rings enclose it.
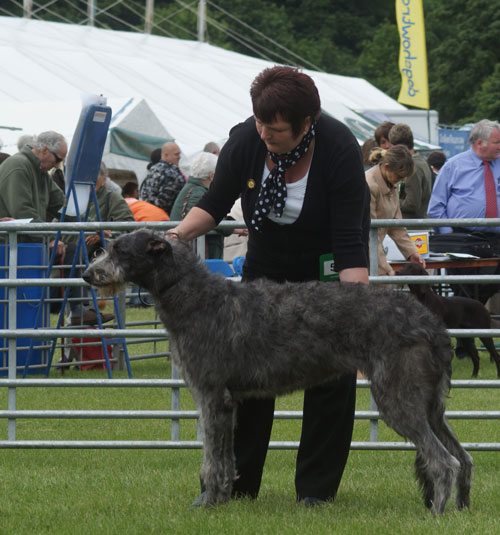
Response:
[[[59,130],[71,139],[81,95],[90,93],[104,95],[115,115],[126,103],[132,113],[142,102],[143,133],[151,124],[151,136],[171,134],[183,154],[193,154],[251,115],[250,84],[272,65],[197,41],[15,17],[0,17],[0,57],[0,138],[9,153],[20,133]],[[323,109],[360,141],[374,123],[358,112],[406,110],[361,78],[305,72]],[[118,159],[112,164],[127,168]]]

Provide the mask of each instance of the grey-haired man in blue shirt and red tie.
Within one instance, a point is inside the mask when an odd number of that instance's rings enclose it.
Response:
[[[500,201],[500,124],[483,119],[470,132],[470,150],[448,159],[439,171],[429,201],[433,219],[498,218]],[[500,256],[500,224],[491,227],[439,227],[439,232],[467,232],[486,238],[492,256]],[[432,251],[432,237],[430,248]],[[452,249],[450,249],[450,252]],[[471,251],[472,253],[472,251]],[[448,270],[450,275],[500,274],[500,268]],[[484,304],[497,291],[497,284],[453,287],[456,295],[478,297]],[[457,345],[457,356],[460,348]]]

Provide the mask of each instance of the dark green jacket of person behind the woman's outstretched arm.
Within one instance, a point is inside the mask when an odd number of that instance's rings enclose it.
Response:
[[[175,199],[170,212],[170,221],[182,221],[189,210],[198,204],[198,201],[207,191],[208,188],[199,178],[190,176]],[[216,230],[216,232],[217,235],[211,234],[206,237],[207,258],[222,258],[224,252],[224,236],[229,236],[233,231],[226,229]]]

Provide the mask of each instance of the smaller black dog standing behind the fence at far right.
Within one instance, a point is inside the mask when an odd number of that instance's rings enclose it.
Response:
[[[427,275],[427,271],[419,265],[410,263],[397,272],[401,276]],[[486,307],[476,299],[468,297],[442,297],[436,295],[429,284],[408,284],[410,292],[434,314],[439,316],[448,329],[490,329],[491,317]],[[488,350],[491,360],[497,366],[497,376],[500,378],[500,356],[495,349],[493,338],[481,338]],[[474,338],[463,338],[463,348],[472,359],[474,369],[472,377],[477,377],[479,371],[479,353]]]

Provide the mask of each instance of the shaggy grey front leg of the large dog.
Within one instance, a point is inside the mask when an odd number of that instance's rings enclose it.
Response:
[[[207,399],[208,398],[208,399]],[[203,464],[200,477],[205,486],[203,504],[227,502],[236,477],[233,452],[234,409],[224,396],[212,394],[202,399],[204,428]]]

